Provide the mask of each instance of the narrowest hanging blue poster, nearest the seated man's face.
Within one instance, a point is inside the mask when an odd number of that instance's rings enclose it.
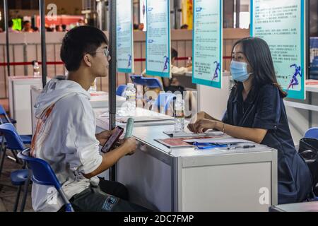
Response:
[[[134,73],[132,1],[117,0],[117,71]]]

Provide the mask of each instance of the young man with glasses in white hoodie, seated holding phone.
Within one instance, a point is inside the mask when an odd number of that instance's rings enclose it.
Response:
[[[76,211],[146,210],[126,201],[124,185],[97,177],[136,149],[135,139],[128,138],[108,153],[99,152],[99,145],[112,132],[95,134],[95,114],[87,90],[95,78],[107,76],[110,59],[108,40],[101,30],[73,28],[61,45],[68,78],[49,81],[35,104],[37,128],[31,155],[49,162]],[[32,201],[36,211],[64,210],[51,186],[33,184]]]

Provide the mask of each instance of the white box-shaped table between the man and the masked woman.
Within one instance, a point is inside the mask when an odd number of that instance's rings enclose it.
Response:
[[[138,150],[117,163],[117,181],[132,202],[160,211],[268,211],[277,204],[276,150],[170,149],[154,141],[172,129],[134,128]],[[260,203],[263,195],[269,203]]]

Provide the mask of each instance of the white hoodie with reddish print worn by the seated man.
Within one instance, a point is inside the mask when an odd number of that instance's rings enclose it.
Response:
[[[31,155],[49,162],[69,199],[99,183],[98,177],[83,177],[102,162],[89,100],[90,94],[78,83],[52,79],[34,106],[37,128]],[[35,183],[32,204],[35,211],[57,211],[64,205],[53,186]]]

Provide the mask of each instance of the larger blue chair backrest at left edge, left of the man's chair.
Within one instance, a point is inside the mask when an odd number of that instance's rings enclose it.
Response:
[[[11,123],[0,125],[0,133],[6,138],[6,148],[11,150],[24,150],[25,145],[18,135],[16,128]]]

